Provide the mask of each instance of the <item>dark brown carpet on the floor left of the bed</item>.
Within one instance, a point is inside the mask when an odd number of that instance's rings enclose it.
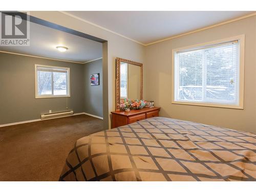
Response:
[[[57,181],[75,141],[102,123],[77,115],[0,127],[0,181]]]

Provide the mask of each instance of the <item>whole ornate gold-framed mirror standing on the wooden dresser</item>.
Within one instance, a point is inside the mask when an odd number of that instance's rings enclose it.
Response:
[[[124,99],[143,98],[143,65],[142,63],[116,58],[116,110]]]

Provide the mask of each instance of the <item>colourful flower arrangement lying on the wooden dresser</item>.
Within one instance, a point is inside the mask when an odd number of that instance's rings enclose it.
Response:
[[[124,99],[123,101],[120,102],[119,104],[119,109],[122,111],[129,112],[131,109],[132,110],[138,110],[144,108],[146,105],[146,101],[144,100],[133,100],[131,101],[130,99]]]

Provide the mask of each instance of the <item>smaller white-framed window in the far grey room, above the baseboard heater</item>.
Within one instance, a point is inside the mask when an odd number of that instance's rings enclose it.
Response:
[[[69,97],[69,68],[35,65],[36,98]]]

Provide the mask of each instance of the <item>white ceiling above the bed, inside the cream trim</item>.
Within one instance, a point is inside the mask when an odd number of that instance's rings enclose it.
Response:
[[[88,22],[149,44],[244,16],[253,11],[67,11]]]

